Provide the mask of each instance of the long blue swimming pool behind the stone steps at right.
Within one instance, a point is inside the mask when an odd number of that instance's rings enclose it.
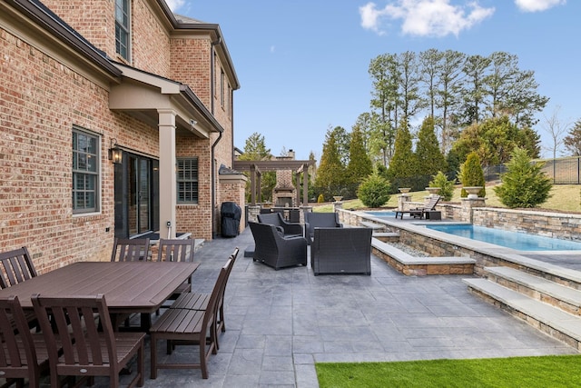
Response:
[[[505,231],[475,225],[425,225],[428,229],[467,237],[517,251],[581,251],[581,243],[534,234]]]

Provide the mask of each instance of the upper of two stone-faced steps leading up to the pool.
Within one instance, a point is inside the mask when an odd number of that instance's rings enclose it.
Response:
[[[487,278],[519,293],[552,304],[567,313],[581,314],[581,291],[511,267],[487,267]]]

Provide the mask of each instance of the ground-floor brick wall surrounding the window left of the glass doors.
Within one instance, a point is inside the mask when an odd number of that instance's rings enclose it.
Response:
[[[102,85],[0,30],[0,251],[26,245],[39,273],[109,260],[113,246],[110,139],[157,154],[157,128],[113,114]],[[72,211],[73,126],[100,134],[102,208]]]

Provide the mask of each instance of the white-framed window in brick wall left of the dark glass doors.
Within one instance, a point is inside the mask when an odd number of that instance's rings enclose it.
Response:
[[[73,213],[99,211],[99,136],[73,128]]]

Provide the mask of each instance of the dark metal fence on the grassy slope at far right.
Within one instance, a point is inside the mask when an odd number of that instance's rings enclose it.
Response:
[[[542,171],[553,180],[553,184],[581,184],[581,156],[536,160],[533,163],[545,163]],[[491,165],[484,168],[484,178],[487,182],[497,181],[500,174],[506,172],[504,164]]]

